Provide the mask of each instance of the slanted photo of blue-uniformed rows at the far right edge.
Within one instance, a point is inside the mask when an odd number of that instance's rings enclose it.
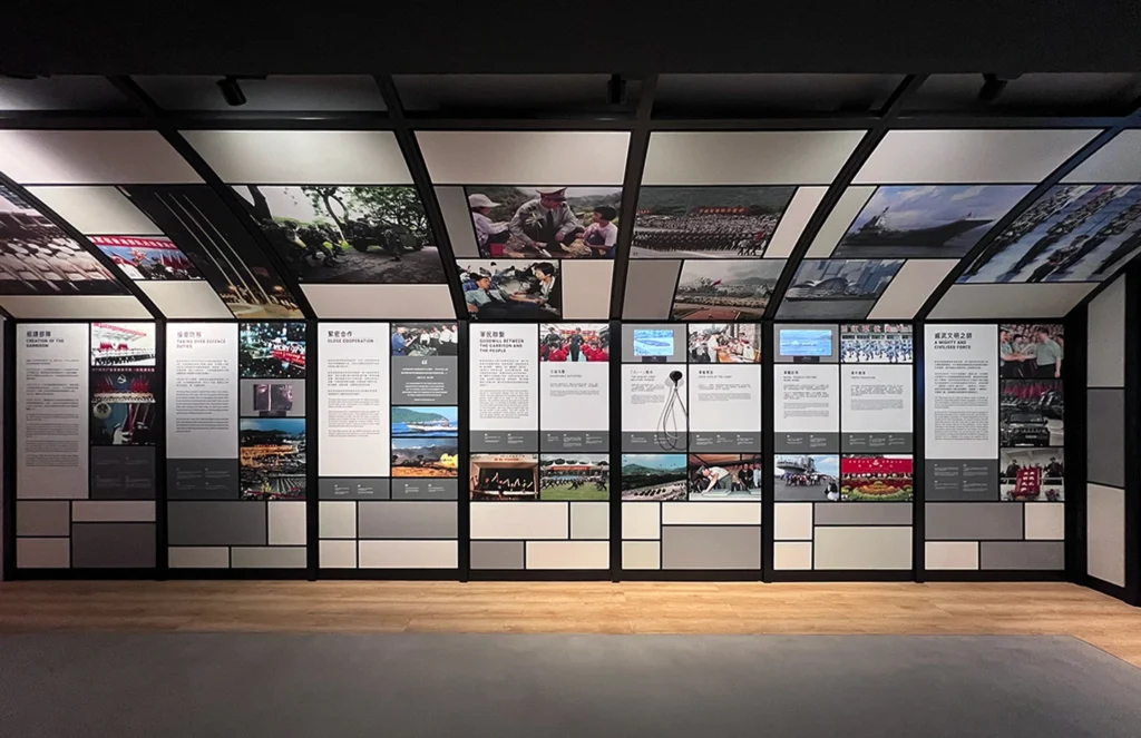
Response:
[[[1141,251],[1141,185],[1057,185],[961,283],[1101,282]]]

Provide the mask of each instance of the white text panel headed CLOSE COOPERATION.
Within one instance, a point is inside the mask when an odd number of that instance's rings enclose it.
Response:
[[[322,323],[317,333],[317,473],[387,477],[388,324]]]

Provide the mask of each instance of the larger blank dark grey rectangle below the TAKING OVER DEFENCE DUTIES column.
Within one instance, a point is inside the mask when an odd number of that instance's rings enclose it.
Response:
[[[170,502],[167,520],[172,546],[266,545],[265,502]]]

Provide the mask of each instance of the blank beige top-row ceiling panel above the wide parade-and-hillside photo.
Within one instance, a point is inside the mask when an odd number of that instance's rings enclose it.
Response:
[[[658,132],[642,185],[828,185],[864,131]]]

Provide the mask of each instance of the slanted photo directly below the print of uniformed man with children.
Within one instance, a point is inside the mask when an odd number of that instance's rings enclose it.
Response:
[[[456,268],[472,319],[549,321],[563,315],[563,275],[556,259],[461,259]]]

